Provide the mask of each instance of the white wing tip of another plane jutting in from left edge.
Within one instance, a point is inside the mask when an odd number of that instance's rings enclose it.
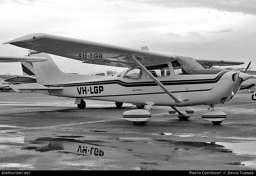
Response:
[[[7,56],[0,55],[0,62],[43,62],[47,61],[45,57],[31,57],[31,56]]]

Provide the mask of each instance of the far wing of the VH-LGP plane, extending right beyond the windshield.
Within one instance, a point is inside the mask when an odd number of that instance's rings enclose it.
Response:
[[[203,67],[212,68],[213,66],[227,66],[244,64],[243,61],[229,61],[221,59],[194,58]]]

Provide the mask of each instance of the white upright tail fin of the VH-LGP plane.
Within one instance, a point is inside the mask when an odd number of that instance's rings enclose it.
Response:
[[[45,86],[52,86],[65,83],[74,83],[89,79],[101,78],[95,75],[79,75],[68,74],[62,72],[57,64],[52,60],[49,54],[41,53],[38,51],[29,51],[31,56],[46,57],[48,60],[45,62],[34,62],[33,69],[36,75],[36,81]]]

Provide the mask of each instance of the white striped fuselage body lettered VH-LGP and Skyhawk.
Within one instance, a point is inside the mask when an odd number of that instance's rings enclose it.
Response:
[[[241,78],[234,79],[236,71],[220,70],[215,74],[185,75],[175,74],[171,69],[170,72],[169,76],[157,79],[176,97],[183,100],[179,106],[217,104],[222,98],[227,101],[239,90],[242,83]],[[119,77],[57,85],[56,87],[61,86],[64,89],[54,91],[51,95],[137,104],[153,101],[155,105],[177,106],[177,103],[151,78],[146,78],[144,73],[141,79],[125,79],[125,73],[126,71]]]

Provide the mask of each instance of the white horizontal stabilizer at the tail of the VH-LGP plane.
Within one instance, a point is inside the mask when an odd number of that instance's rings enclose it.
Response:
[[[28,84],[15,84],[9,85],[15,92],[20,93],[19,90],[31,90],[31,91],[49,91],[49,90],[62,90],[63,87],[46,87],[38,83],[28,83]]]

